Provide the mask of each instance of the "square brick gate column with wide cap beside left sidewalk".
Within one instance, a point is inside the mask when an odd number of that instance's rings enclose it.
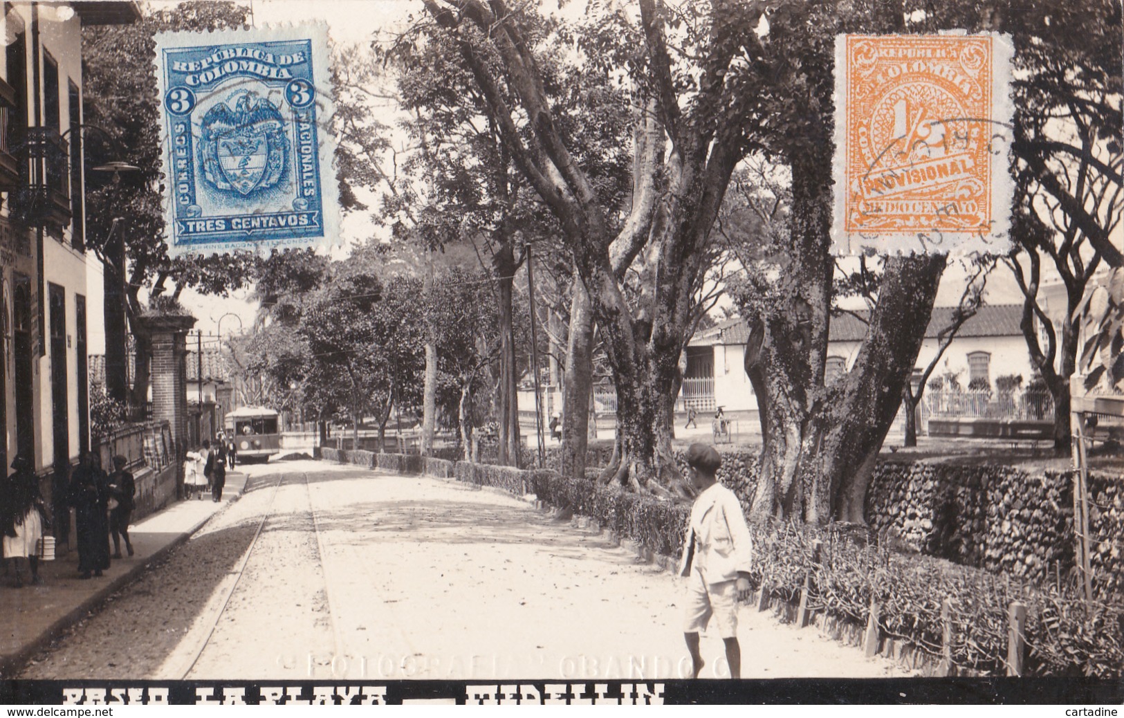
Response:
[[[142,319],[152,336],[152,418],[172,427],[175,456],[175,496],[183,498],[183,458],[188,451],[188,329],[191,316],[153,316]]]

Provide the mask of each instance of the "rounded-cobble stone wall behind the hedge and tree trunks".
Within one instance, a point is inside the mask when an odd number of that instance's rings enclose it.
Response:
[[[758,453],[720,453],[718,480],[749,509],[758,484]],[[588,465],[602,465],[610,455],[590,449]],[[558,449],[547,453],[547,467],[556,456]],[[681,452],[676,458],[686,470]],[[1091,473],[1089,493],[1094,588],[1100,594],[1124,594],[1124,475]],[[1035,583],[1072,576],[1071,472],[881,461],[867,494],[867,519],[880,537],[907,551]]]

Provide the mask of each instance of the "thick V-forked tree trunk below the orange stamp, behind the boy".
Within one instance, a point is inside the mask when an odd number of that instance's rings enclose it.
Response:
[[[873,462],[901,405],[944,256],[890,257],[867,339],[845,380],[824,387],[833,262],[830,158],[792,165],[791,251],[801,257],[746,345],[763,446],[755,516],[862,521]]]

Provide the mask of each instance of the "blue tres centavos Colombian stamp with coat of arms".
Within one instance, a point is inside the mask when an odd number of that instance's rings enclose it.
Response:
[[[169,254],[338,242],[327,28],[162,33]]]

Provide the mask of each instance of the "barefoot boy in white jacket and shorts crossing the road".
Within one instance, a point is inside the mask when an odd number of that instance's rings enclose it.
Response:
[[[726,646],[731,678],[742,676],[742,648],[737,643],[737,601],[750,597],[753,539],[742,505],[715,474],[722,456],[707,444],[687,448],[687,474],[698,491],[691,507],[679,575],[687,576],[687,625],[683,638],[691,654],[695,678],[703,671],[699,631],[710,619]]]

